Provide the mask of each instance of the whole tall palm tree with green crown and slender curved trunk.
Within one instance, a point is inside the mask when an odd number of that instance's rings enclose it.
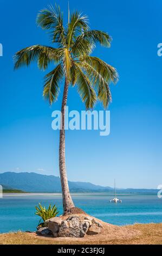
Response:
[[[15,56],[15,69],[37,62],[38,68],[45,70],[49,64],[54,69],[44,77],[43,96],[52,104],[60,93],[61,80],[64,78],[62,98],[62,122],[60,129],[59,168],[63,196],[64,213],[74,208],[70,196],[66,161],[64,116],[67,105],[69,86],[77,86],[81,100],[86,109],[92,109],[97,100],[107,108],[111,102],[109,84],[118,80],[116,70],[98,57],[90,56],[96,43],[109,47],[111,36],[106,32],[89,30],[87,16],[75,11],[68,16],[68,24],[63,25],[60,7],[43,9],[38,13],[37,25],[50,34],[56,48],[44,45],[33,45],[18,51]]]

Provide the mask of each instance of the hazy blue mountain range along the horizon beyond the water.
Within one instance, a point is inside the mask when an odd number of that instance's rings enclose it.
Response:
[[[90,182],[68,181],[70,192],[113,192],[112,187],[94,185]],[[60,178],[54,175],[42,175],[37,173],[14,173],[0,174],[0,185],[8,189],[23,190],[26,192],[61,192]],[[154,189],[116,188],[118,192],[157,192]]]

